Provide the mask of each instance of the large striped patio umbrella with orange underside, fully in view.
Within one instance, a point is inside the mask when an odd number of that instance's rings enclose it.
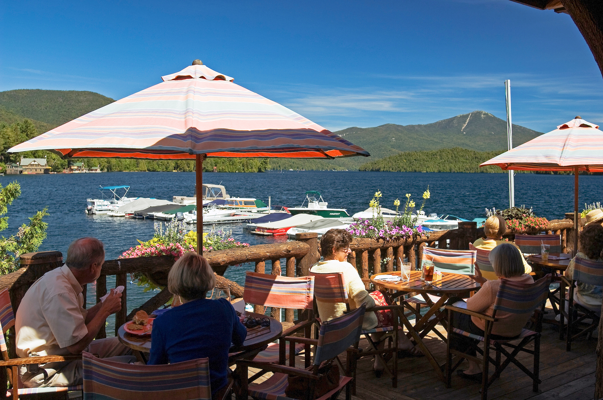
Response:
[[[206,157],[333,159],[369,155],[289,108],[233,83],[233,78],[209,69],[200,60],[162,79],[162,83],[9,152],[48,150],[64,159],[196,160],[198,199]],[[203,213],[198,213],[200,253],[201,232]]]

